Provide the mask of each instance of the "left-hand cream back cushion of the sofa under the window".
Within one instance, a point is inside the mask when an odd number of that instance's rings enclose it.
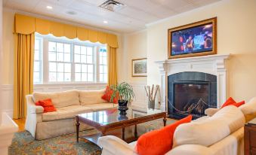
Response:
[[[34,102],[44,99],[51,99],[55,108],[66,107],[69,105],[80,105],[79,92],[77,90],[57,93],[33,93],[32,96]]]

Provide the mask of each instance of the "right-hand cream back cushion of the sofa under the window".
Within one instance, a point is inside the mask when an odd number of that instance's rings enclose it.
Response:
[[[79,100],[81,105],[91,105],[97,103],[107,103],[101,99],[105,90],[79,90]]]

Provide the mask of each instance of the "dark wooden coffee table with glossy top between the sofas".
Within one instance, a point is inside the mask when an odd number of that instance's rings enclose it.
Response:
[[[122,129],[122,139],[125,141],[125,127],[134,126],[134,139],[127,140],[127,142],[137,140],[137,124],[145,123],[151,120],[157,120],[163,118],[164,126],[166,125],[166,112],[164,111],[150,111],[135,113],[133,108],[129,108],[128,114],[122,116],[119,114],[117,108],[108,109],[104,111],[94,111],[84,114],[76,115],[76,141],[79,142],[79,138],[85,138],[97,144],[97,140],[100,136],[106,135],[114,129]],[[80,123],[88,124],[93,126],[95,129],[100,131],[100,133],[93,135],[79,136],[79,126]]]

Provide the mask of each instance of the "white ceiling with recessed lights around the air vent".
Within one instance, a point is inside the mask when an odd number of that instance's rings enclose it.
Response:
[[[147,23],[153,23],[220,0],[116,0],[125,5],[124,8],[116,12],[98,7],[105,1],[4,0],[4,7],[127,33],[145,29]],[[52,9],[46,8],[47,6],[51,6]],[[76,14],[66,14],[67,11],[73,11]],[[108,23],[103,23],[103,21]]]

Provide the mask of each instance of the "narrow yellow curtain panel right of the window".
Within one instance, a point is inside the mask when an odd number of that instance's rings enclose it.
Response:
[[[108,85],[117,84],[117,62],[116,62],[116,48],[107,48],[108,58]]]

